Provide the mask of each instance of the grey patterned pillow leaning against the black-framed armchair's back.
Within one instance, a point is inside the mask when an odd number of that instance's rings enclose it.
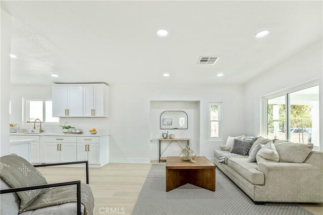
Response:
[[[27,160],[17,154],[1,157],[1,178],[11,187],[29,187],[47,184],[46,179]],[[19,212],[23,212],[38,195],[48,189],[27,190],[17,192],[21,202]]]

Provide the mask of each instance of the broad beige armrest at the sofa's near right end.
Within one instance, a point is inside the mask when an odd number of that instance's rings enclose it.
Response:
[[[257,170],[264,174],[263,201],[323,202],[320,168],[307,163],[259,163]]]

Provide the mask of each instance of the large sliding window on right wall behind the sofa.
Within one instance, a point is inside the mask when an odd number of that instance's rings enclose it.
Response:
[[[318,97],[313,84],[264,97],[267,137],[319,147]]]

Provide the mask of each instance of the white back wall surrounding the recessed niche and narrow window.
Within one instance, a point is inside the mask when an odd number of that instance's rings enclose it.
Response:
[[[22,118],[22,96],[50,96],[51,92],[51,86],[13,85],[11,89],[12,123],[17,123]],[[200,101],[199,151],[200,155],[208,158],[213,157],[214,149],[225,144],[228,135],[238,136],[244,133],[241,85],[118,84],[110,85],[109,90],[109,118],[61,118],[60,122],[68,121],[84,132],[93,127],[98,132],[111,130],[110,162],[150,162],[150,101],[153,100]],[[208,140],[208,102],[214,101],[223,102],[223,141]],[[44,127],[44,130],[47,132],[50,128]]]

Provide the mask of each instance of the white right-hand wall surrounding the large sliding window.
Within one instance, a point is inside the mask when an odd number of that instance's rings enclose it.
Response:
[[[320,150],[323,149],[323,54],[322,40],[310,45],[281,64],[265,71],[244,85],[245,132],[260,135],[261,97],[303,82],[319,80]]]

